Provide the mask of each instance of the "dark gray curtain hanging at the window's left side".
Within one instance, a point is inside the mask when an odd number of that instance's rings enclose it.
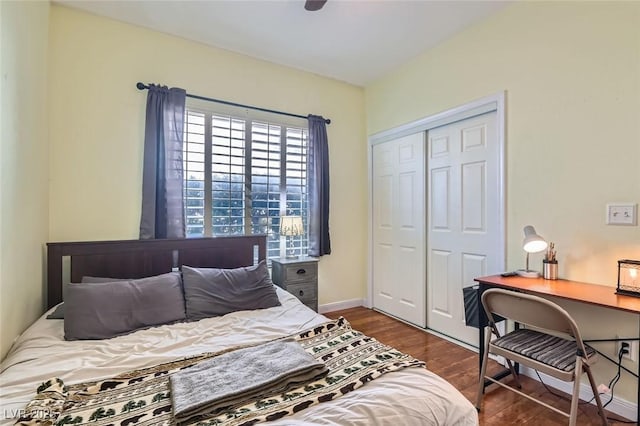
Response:
[[[183,89],[149,85],[140,239],[184,238]]]

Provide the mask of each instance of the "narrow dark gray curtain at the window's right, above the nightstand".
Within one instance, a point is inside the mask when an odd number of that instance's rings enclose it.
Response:
[[[309,256],[331,253],[329,238],[329,142],[324,118],[309,115]]]

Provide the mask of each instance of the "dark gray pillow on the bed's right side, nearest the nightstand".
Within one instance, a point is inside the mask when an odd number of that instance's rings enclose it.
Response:
[[[236,269],[182,267],[187,318],[280,306],[266,261]]]

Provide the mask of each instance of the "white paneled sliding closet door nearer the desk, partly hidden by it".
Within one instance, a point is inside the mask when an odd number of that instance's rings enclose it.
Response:
[[[503,267],[501,150],[496,112],[427,133],[430,329],[478,345],[464,321],[462,288]]]

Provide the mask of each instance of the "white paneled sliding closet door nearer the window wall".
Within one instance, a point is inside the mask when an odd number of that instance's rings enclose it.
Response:
[[[373,306],[424,327],[424,132],[373,146]]]

